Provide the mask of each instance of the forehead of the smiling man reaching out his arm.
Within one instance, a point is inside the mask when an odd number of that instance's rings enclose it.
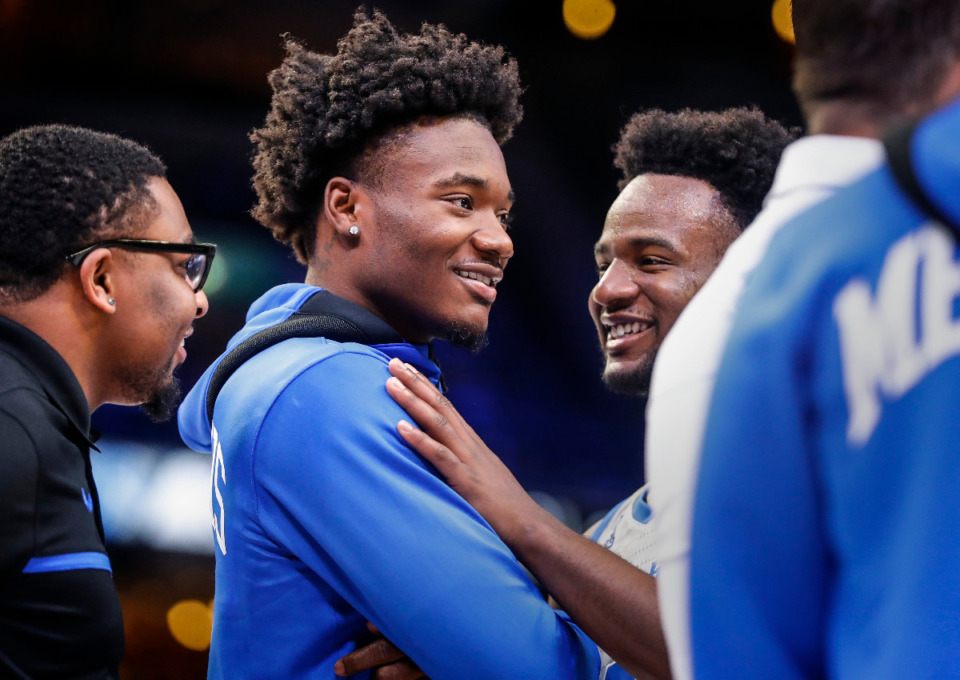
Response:
[[[714,243],[724,227],[719,199],[717,190],[703,180],[640,175],[610,206],[597,251],[650,241],[687,252]]]

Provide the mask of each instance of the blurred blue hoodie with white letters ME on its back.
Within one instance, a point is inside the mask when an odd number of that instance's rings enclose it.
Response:
[[[960,102],[913,163],[960,223]],[[886,166],[772,238],[716,376],[698,680],[960,677],[960,262]]]

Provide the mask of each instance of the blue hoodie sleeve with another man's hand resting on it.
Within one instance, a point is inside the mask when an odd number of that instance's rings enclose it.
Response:
[[[434,680],[596,678],[596,645],[400,438],[387,377],[347,351],[283,391],[255,449],[263,528]]]

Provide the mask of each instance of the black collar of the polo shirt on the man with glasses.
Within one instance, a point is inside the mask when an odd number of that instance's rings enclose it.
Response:
[[[92,446],[87,397],[57,350],[29,328],[0,316],[0,352],[10,356],[36,380],[50,401]]]

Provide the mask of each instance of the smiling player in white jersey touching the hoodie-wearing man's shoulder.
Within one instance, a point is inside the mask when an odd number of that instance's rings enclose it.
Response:
[[[646,394],[660,343],[760,211],[791,139],[779,123],[746,108],[651,110],[625,126],[615,147],[624,179],[595,247],[600,280],[589,297],[612,389]],[[390,368],[389,393],[424,429],[401,425],[403,437],[600,644],[601,677],[669,677],[651,578],[657,568],[648,488],[611,510],[588,540],[537,505],[433,387],[398,362]],[[532,653],[551,660],[548,648]],[[380,640],[344,659],[344,667],[386,665],[398,656]],[[405,677],[394,670],[390,677]]]

